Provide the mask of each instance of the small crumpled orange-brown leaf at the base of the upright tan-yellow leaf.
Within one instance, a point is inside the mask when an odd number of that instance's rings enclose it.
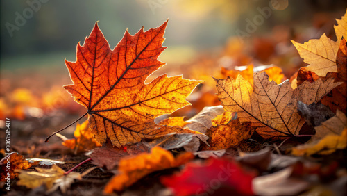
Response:
[[[212,119],[212,127],[206,132],[210,147],[204,150],[228,149],[239,142],[251,138],[254,129],[250,123],[240,124],[239,119],[231,120],[232,113],[225,112]]]

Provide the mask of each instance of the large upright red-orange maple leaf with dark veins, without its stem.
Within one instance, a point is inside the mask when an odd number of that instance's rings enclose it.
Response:
[[[74,84],[64,88],[87,108],[89,131],[101,144],[108,138],[120,147],[142,138],[192,132],[153,121],[189,105],[185,97],[201,83],[166,74],[144,83],[164,65],[157,58],[165,49],[162,42],[166,26],[164,22],[146,32],[142,28],[135,35],[126,31],[111,50],[96,23],[83,46],[77,45],[76,62],[65,60]]]

